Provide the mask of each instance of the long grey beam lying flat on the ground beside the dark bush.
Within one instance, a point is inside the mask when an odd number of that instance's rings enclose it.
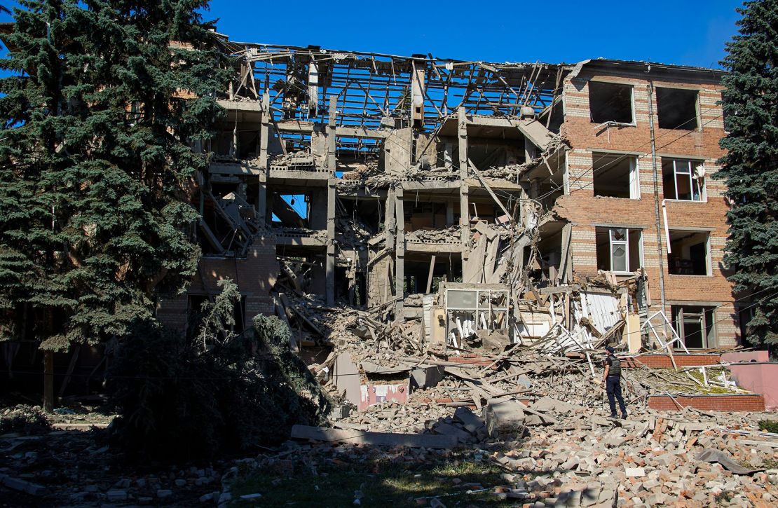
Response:
[[[438,450],[446,450],[457,446],[457,438],[454,436],[375,433],[359,430],[324,429],[306,425],[293,426],[292,438],[297,440],[365,444],[378,447],[435,448]]]

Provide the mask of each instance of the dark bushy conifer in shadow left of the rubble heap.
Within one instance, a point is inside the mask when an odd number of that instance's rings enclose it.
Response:
[[[153,321],[136,324],[109,373],[120,412],[114,445],[137,458],[211,458],[279,443],[294,424],[321,422],[329,403],[289,349],[286,324],[261,316],[234,334],[226,302],[237,299],[237,287],[224,282],[191,339]]]

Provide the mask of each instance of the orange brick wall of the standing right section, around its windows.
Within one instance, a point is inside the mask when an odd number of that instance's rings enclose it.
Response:
[[[703,304],[722,306],[715,311],[717,347],[737,344],[738,321],[734,313],[731,284],[723,269],[724,243],[727,239],[725,214],[727,202],[722,193],[724,185],[711,175],[723,155],[719,139],[724,136],[724,122],[720,100],[721,87],[710,82],[666,82],[655,80],[654,86],[689,87],[699,90],[699,124],[695,131],[658,128],[656,94],[654,93],[654,125],[657,146],[657,173],[659,199],[664,199],[661,181],[661,158],[672,156],[703,160],[706,168],[707,201],[667,201],[668,225],[674,228],[699,228],[710,234],[711,275],[670,275],[665,241],[657,239],[654,208],[654,176],[651,157],[648,81],[643,75],[629,72],[611,75],[594,74],[584,68],[576,78],[564,84],[565,122],[562,133],[572,150],[568,153],[567,181],[569,194],[557,199],[555,210],[573,223],[573,272],[577,276],[594,275],[598,270],[595,228],[597,226],[626,226],[641,229],[643,239],[643,267],[649,277],[650,311],[661,310],[659,265],[664,265],[664,309],[671,317],[670,306]],[[634,126],[605,127],[590,120],[590,79],[633,85]],[[616,151],[633,153],[638,161],[640,198],[606,198],[594,196],[592,165],[594,152]],[[661,210],[660,210],[661,215]],[[661,235],[664,236],[664,223]],[[713,346],[713,345],[710,345]]]

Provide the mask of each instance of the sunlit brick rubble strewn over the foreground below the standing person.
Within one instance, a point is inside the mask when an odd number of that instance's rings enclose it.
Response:
[[[442,406],[427,413],[435,416],[424,422],[425,432],[487,454],[508,482],[470,488],[491,488],[496,498],[521,506],[774,506],[778,500],[778,435],[758,432],[760,415],[631,408],[628,419],[613,420],[551,397],[527,406],[491,401],[483,416],[464,407],[441,416]],[[374,407],[334,425],[418,432],[420,422],[408,423],[418,408]],[[350,450],[349,439],[340,442]]]

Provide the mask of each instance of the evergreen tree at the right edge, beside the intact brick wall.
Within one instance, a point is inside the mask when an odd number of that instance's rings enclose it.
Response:
[[[745,2],[739,34],[727,43],[722,94],[731,210],[725,263],[736,292],[752,292],[752,344],[778,345],[778,0]],[[745,317],[741,315],[741,317]]]

